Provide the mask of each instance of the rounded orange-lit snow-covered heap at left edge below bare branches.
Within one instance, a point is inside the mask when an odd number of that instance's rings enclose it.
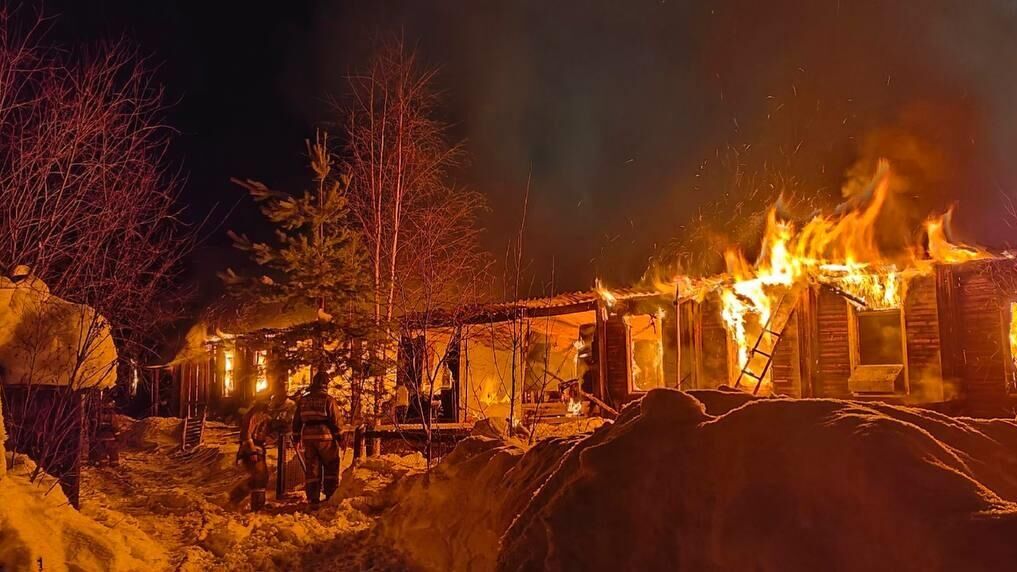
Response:
[[[50,293],[34,276],[0,277],[0,379],[5,384],[107,389],[117,381],[110,325]]]

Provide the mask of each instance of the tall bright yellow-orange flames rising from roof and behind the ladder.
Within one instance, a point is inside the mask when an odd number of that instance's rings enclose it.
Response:
[[[690,279],[662,278],[651,269],[645,282],[661,293],[702,300],[718,292],[721,317],[735,355],[731,380],[742,387],[757,384],[764,393],[772,390],[769,358],[797,302],[799,286],[822,285],[833,289],[856,307],[892,309],[903,304],[908,282],[933,271],[933,263],[957,264],[991,259],[984,249],[950,240],[948,211],[925,223],[928,256],[911,247],[893,256],[880,251],[877,222],[889,198],[891,170],[880,161],[876,174],[859,193],[849,197],[831,215],[818,215],[798,228],[780,220],[776,207],[768,213],[766,231],[755,264],[737,248],[724,252],[725,275]],[[596,290],[608,306],[617,298],[597,282]],[[786,305],[785,305],[786,304]],[[1017,307],[1015,307],[1017,311]],[[1017,355],[1017,320],[1011,329]],[[758,350],[758,351],[754,351]],[[752,376],[745,376],[743,373]],[[762,378],[762,379],[759,379]]]

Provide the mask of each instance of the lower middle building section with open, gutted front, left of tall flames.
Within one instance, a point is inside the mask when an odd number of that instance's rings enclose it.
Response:
[[[674,325],[672,297],[632,289],[415,314],[403,321],[398,384],[411,410],[433,401],[447,421],[612,413],[678,386]]]

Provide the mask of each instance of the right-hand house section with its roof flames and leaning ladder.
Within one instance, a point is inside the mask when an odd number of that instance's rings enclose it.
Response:
[[[682,388],[1013,415],[1017,262],[952,243],[949,213],[883,253],[889,177],[834,216],[772,210],[756,263],[732,248],[726,274],[671,283]]]

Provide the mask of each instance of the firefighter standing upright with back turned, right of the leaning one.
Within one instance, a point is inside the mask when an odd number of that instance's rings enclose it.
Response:
[[[304,450],[304,492],[312,507],[320,502],[322,489],[325,500],[339,489],[340,412],[327,387],[328,375],[315,374],[293,415],[293,441]]]

